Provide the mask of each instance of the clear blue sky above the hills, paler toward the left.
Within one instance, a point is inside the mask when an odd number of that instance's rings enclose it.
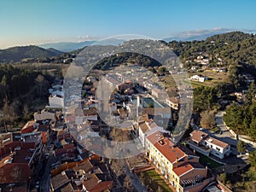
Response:
[[[122,34],[256,30],[254,0],[1,0],[0,49]]]

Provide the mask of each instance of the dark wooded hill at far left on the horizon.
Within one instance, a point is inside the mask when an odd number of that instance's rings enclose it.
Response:
[[[62,55],[63,52],[50,48],[43,49],[35,45],[12,47],[9,49],[0,49],[0,62],[21,61],[29,58],[44,58],[56,55]]]

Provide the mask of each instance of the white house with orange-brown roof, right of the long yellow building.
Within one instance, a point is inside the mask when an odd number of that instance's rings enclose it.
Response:
[[[202,154],[206,154],[207,156],[212,154],[219,159],[224,159],[224,157],[229,156],[231,153],[230,144],[224,143],[217,138],[209,137],[203,131],[192,131],[188,144],[190,148]]]

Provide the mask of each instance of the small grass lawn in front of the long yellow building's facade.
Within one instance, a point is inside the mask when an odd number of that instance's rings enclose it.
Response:
[[[153,189],[153,191],[157,191],[157,189],[160,187],[163,192],[173,192],[172,189],[170,189],[166,184],[166,182],[154,170],[142,172],[141,174],[144,178],[143,183],[148,185],[149,188]]]

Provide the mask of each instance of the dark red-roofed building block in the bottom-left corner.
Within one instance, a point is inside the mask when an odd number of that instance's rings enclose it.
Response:
[[[40,155],[40,144],[15,142],[11,133],[0,135],[0,185],[4,183],[27,184]]]

